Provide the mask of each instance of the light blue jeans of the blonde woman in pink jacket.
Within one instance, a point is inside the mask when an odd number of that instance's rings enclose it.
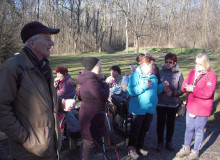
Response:
[[[194,143],[194,150],[199,150],[200,146],[203,142],[204,138],[204,128],[208,117],[190,117],[189,112],[186,112],[186,131],[185,131],[185,139],[184,145],[190,146],[192,141],[193,135],[195,133],[195,143]]]

